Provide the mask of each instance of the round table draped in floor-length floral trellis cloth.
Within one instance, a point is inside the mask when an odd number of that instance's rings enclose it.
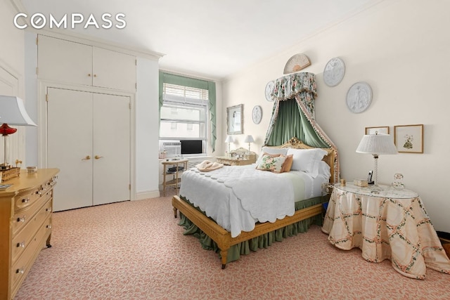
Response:
[[[450,260],[419,195],[389,185],[372,190],[334,185],[322,227],[331,244],[359,247],[366,261],[390,259],[409,278],[424,279],[426,267],[450,274]]]

